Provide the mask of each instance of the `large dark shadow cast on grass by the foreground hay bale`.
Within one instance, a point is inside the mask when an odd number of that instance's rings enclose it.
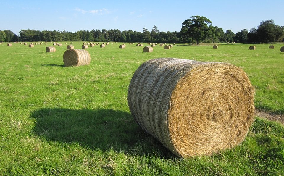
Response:
[[[33,133],[50,141],[78,143],[80,146],[114,150],[139,156],[175,156],[137,125],[130,113],[113,109],[40,109]]]

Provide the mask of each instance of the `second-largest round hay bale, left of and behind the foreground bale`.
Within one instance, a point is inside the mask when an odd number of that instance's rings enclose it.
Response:
[[[63,62],[65,67],[89,65],[91,62],[91,56],[87,50],[68,49],[63,54]]]

